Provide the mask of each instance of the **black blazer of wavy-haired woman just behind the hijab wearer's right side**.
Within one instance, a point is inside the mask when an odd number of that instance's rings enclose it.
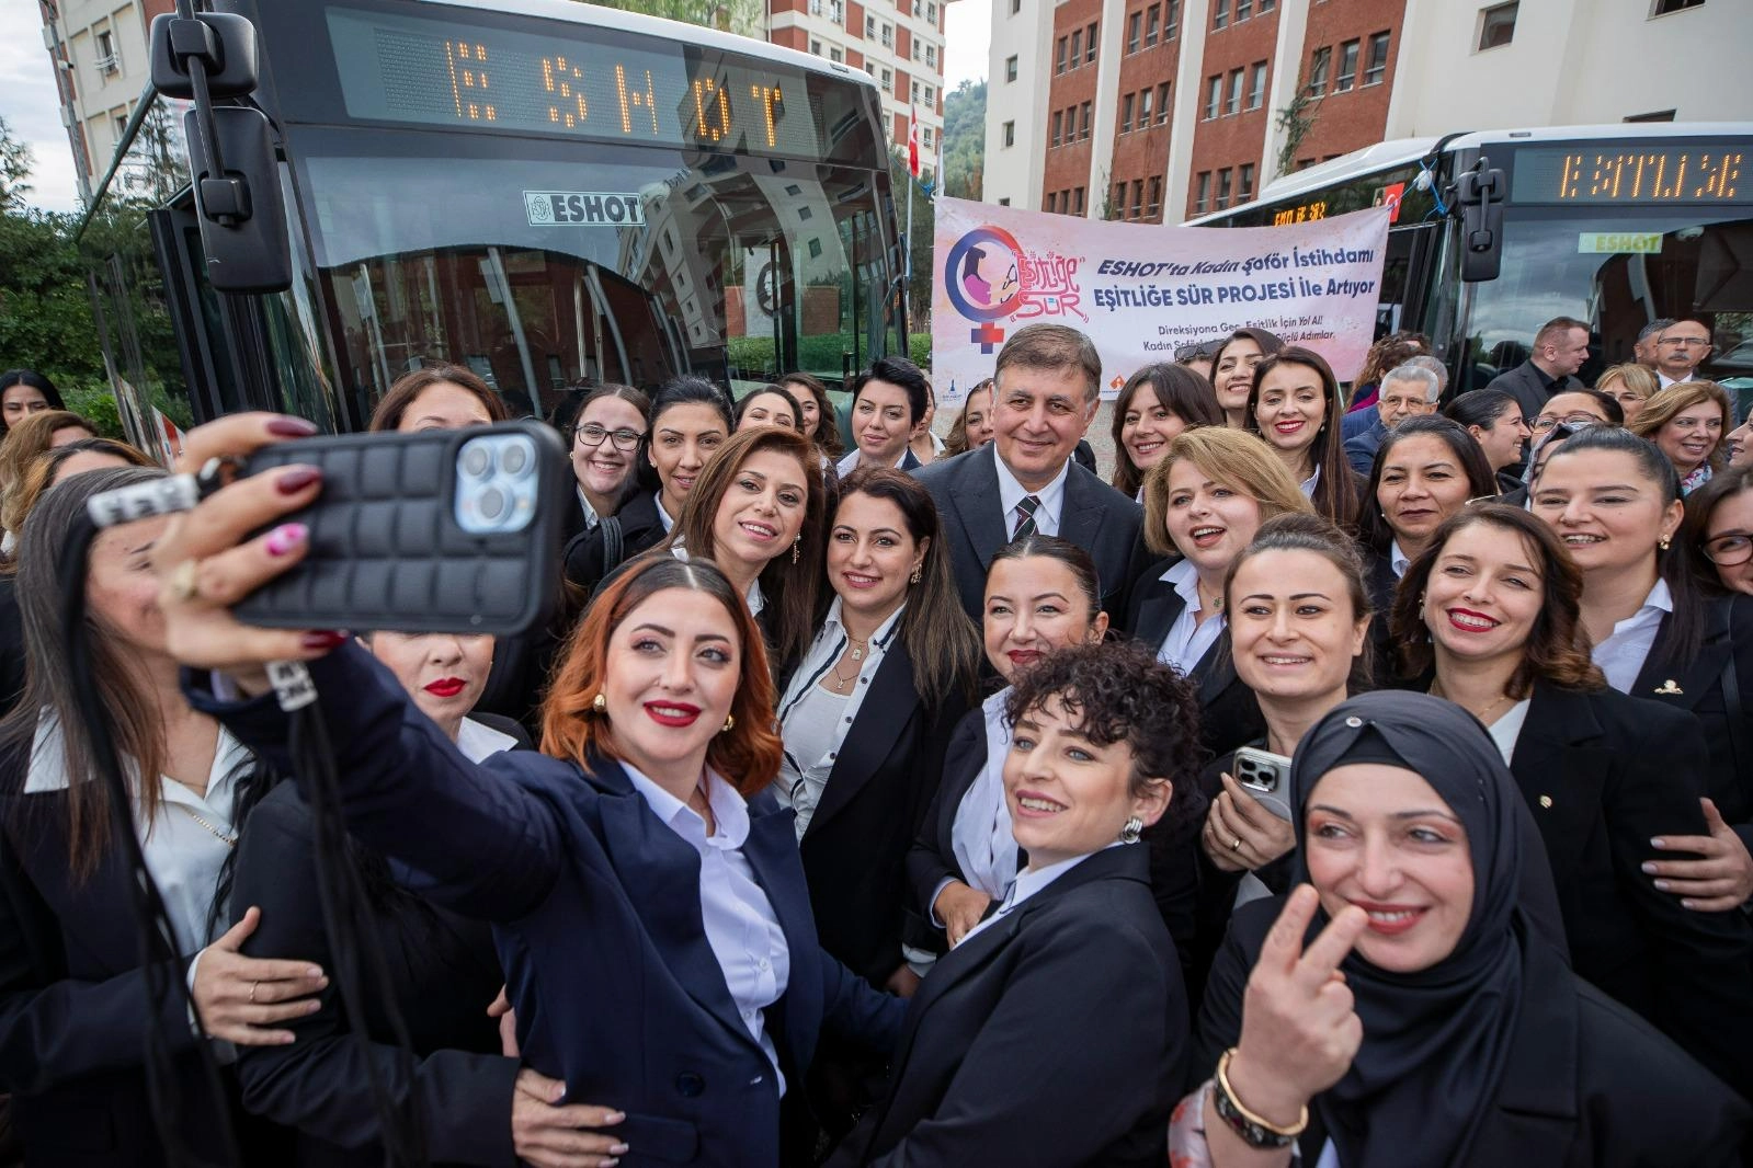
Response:
[[[1618,690],[1536,681],[1509,770],[1551,863],[1576,974],[1753,1094],[1753,926],[1693,912],[1641,865],[1704,835],[1699,720]]]

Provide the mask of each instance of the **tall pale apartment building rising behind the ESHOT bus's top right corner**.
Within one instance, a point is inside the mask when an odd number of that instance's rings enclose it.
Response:
[[[903,151],[910,112],[919,110],[920,163],[933,170],[943,135],[947,9],[948,0],[770,0],[768,40],[875,77],[889,140]]]

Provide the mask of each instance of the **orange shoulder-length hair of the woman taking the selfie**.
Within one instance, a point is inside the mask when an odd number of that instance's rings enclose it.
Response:
[[[633,609],[668,588],[706,592],[724,604],[736,627],[742,648],[742,676],[731,700],[736,723],[713,735],[706,748],[706,765],[749,799],[773,781],[785,753],[785,744],[773,728],[775,692],[766,644],[749,606],[724,573],[706,560],[684,564],[666,550],[642,555],[614,576],[573,629],[550,679],[547,700],[542,702],[542,753],[586,769],[593,753],[621,760],[614,727],[593,707],[608,672],[608,641]]]

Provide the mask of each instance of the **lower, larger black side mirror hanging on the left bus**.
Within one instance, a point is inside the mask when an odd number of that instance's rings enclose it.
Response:
[[[207,282],[221,292],[284,292],[293,257],[268,116],[221,105],[212,126],[224,170],[212,163],[196,112],[184,117]]]

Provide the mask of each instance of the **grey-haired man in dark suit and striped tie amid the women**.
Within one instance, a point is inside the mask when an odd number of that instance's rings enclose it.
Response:
[[[919,471],[943,515],[962,608],[978,622],[992,555],[1041,532],[1090,553],[1103,608],[1120,616],[1148,560],[1143,513],[1071,457],[1099,403],[1096,347],[1062,324],[1031,324],[1004,341],[994,380],[989,447]]]

